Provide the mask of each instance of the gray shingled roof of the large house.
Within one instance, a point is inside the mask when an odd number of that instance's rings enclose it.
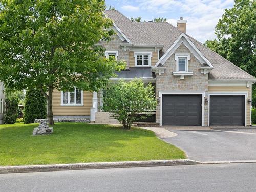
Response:
[[[166,52],[170,46],[173,45],[175,40],[182,33],[173,25],[168,22],[131,22],[130,19],[122,15],[116,10],[105,11],[114,23],[120,28],[120,30],[131,40],[133,44],[143,45],[164,45],[162,51]],[[255,80],[253,76],[246,73],[233,63],[229,62],[222,56],[218,55],[214,51],[206,48],[199,41],[188,36],[193,44],[199,49],[199,51],[209,60],[214,66],[209,73],[209,79],[212,80],[224,80],[224,79],[251,79]]]

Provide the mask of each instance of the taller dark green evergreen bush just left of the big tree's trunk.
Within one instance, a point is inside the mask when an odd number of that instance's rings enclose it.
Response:
[[[46,99],[39,90],[30,89],[25,96],[24,123],[46,118]]]

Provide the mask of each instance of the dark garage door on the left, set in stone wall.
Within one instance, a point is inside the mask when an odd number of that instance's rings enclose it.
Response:
[[[162,125],[201,126],[201,95],[164,95]]]

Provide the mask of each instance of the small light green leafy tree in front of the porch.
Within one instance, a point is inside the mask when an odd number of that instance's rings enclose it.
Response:
[[[156,107],[154,87],[152,84],[144,86],[139,79],[110,84],[103,102],[103,110],[113,113],[124,129],[131,128],[138,120],[138,114]]]

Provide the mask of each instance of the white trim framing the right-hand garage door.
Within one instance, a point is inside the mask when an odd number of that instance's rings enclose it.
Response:
[[[247,126],[247,109],[246,109],[246,102],[247,102],[247,98],[248,98],[248,92],[209,92],[208,93],[208,126],[210,126],[210,96],[211,95],[244,95],[244,125]]]

